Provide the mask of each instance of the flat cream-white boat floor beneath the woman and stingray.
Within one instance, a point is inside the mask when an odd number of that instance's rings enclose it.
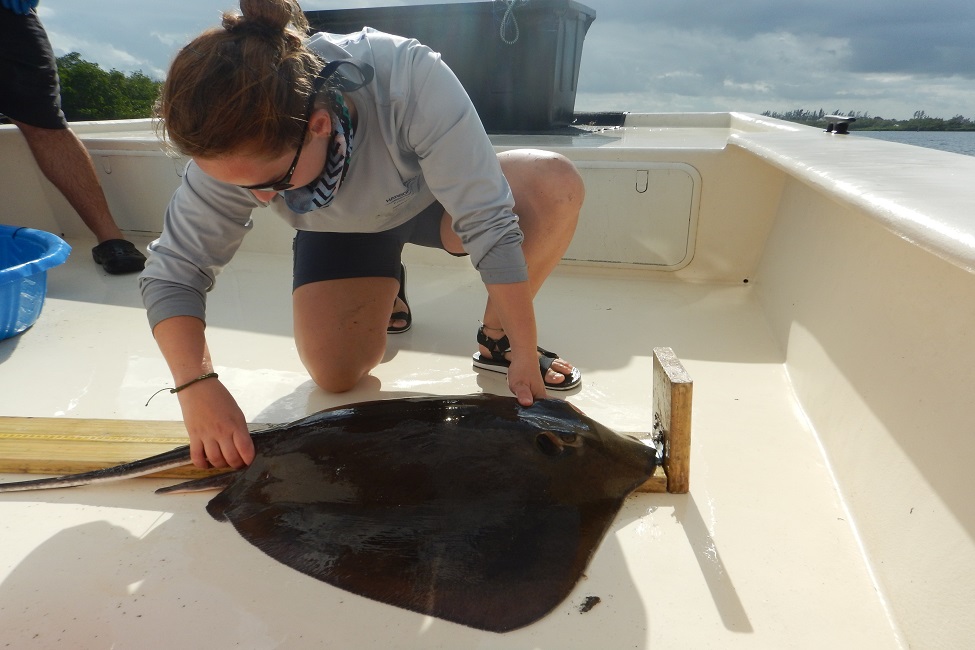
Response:
[[[178,419],[135,280],[90,242],[49,278],[38,323],[0,342],[0,415]],[[144,242],[140,242],[142,244]],[[222,381],[252,422],[419,394],[504,394],[471,368],[483,287],[463,260],[408,258],[413,329],[354,391],[328,395],[291,338],[290,259],[241,252],[210,296]],[[438,262],[439,263],[439,262]],[[268,559],[207,494],[164,481],[0,495],[0,640],[61,647],[894,647],[857,540],[747,285],[565,267],[537,298],[540,344],[576,363],[563,395],[620,431],[651,427],[651,350],[694,380],[691,492],[624,505],[569,598],[496,635],[365,600]],[[6,475],[2,480],[17,477]],[[485,477],[489,485],[490,477]],[[560,549],[552,549],[553,553]],[[600,601],[583,612],[591,596]],[[517,607],[517,602],[512,602]]]

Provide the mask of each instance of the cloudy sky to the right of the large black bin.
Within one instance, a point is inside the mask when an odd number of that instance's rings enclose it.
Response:
[[[631,111],[859,110],[945,117],[975,103],[975,3],[608,0],[576,106]],[[620,110],[617,105],[615,110]]]

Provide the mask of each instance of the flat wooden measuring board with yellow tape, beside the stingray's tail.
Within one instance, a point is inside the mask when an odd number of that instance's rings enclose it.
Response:
[[[188,443],[182,422],[0,417],[0,472],[76,474]],[[197,478],[213,473],[188,465],[152,476]]]

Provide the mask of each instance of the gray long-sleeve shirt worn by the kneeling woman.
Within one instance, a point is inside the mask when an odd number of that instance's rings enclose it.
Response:
[[[298,214],[278,195],[271,209],[299,230],[380,232],[436,199],[485,283],[526,280],[511,189],[474,106],[440,55],[368,27],[316,34],[308,46],[325,60],[364,61],[375,78],[347,95],[358,113],[355,148],[332,203]],[[140,277],[152,327],[173,316],[205,320],[206,292],[250,230],[251,212],[263,205],[249,190],[187,165]]]

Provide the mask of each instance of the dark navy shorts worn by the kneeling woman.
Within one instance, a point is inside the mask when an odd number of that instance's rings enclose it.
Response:
[[[443,213],[443,206],[435,201],[403,225],[382,232],[299,230],[293,246],[294,288],[347,278],[398,280],[405,244],[444,250],[440,238]]]

